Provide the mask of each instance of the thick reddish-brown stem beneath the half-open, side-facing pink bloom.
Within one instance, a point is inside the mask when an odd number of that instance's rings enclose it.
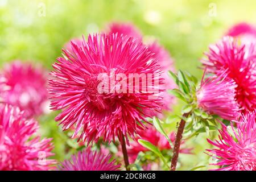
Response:
[[[188,115],[189,115],[189,113],[185,113],[185,114],[183,114],[183,117],[187,118]],[[176,138],[175,138],[174,152],[172,154],[172,161],[171,161],[170,171],[175,171],[176,170],[177,159],[179,158],[180,144],[181,144],[181,139],[182,139],[182,134],[183,134],[183,131],[184,131],[185,123],[186,122],[184,121],[184,119],[181,119],[180,125],[177,129],[177,134],[176,134]]]

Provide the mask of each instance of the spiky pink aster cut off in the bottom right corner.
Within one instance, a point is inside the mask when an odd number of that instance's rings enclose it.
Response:
[[[220,140],[208,142],[216,149],[207,150],[218,161],[212,165],[221,166],[219,171],[256,171],[256,122],[255,113],[243,116],[229,131],[224,124],[219,130]]]

